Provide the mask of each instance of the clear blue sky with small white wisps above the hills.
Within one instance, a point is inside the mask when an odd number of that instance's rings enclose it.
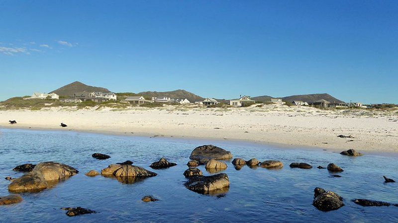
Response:
[[[398,3],[0,0],[0,100],[73,81],[398,104]]]

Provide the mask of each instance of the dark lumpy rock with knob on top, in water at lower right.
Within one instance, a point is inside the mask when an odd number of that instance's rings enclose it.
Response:
[[[314,200],[312,205],[320,211],[328,212],[343,207],[344,203],[343,198],[338,194],[316,187],[314,189]]]

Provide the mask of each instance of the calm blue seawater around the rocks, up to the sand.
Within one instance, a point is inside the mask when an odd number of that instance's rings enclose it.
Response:
[[[203,144],[229,150],[235,158],[280,160],[280,170],[243,167],[228,162],[223,171],[230,180],[223,197],[201,195],[186,189],[183,172],[192,150]],[[96,160],[93,153],[111,156]],[[148,167],[161,157],[178,165],[164,170]],[[158,173],[134,184],[122,184],[102,176],[87,177],[109,164],[131,160],[134,165]],[[350,200],[375,199],[398,203],[398,183],[385,184],[383,175],[398,179],[396,157],[365,155],[352,158],[328,151],[278,149],[234,142],[170,140],[123,137],[79,132],[0,129],[0,196],[7,195],[5,176],[19,177],[16,165],[55,161],[80,173],[40,193],[21,194],[19,204],[0,206],[0,222],[398,222],[397,207],[361,207]],[[315,168],[290,168],[304,162]],[[340,178],[328,177],[333,162],[344,168]],[[203,166],[199,167],[204,174]],[[345,199],[337,211],[320,212],[312,206],[314,187],[332,190]],[[144,203],[153,195],[158,202]],[[81,206],[98,214],[69,218],[61,207]]]

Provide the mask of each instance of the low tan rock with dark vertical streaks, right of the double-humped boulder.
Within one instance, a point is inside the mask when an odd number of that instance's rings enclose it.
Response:
[[[132,165],[118,165],[111,164],[108,167],[101,170],[101,174],[104,176],[134,176],[134,177],[151,177],[156,176],[157,173],[146,170],[142,167],[136,167]]]

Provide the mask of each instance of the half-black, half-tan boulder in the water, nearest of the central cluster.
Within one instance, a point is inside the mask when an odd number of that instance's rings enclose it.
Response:
[[[225,192],[229,188],[228,175],[219,173],[211,176],[193,176],[185,183],[185,186],[200,194],[213,194]]]

